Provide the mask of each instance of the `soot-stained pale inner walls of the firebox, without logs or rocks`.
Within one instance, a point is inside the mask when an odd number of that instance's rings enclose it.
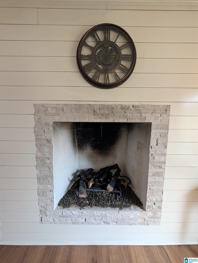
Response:
[[[151,123],[53,123],[54,209],[80,170],[118,163],[146,207]]]

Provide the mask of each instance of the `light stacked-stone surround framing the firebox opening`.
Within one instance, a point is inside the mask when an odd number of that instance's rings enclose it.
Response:
[[[40,223],[160,225],[170,105],[35,104],[34,111]],[[145,210],[54,209],[54,122],[151,123]]]

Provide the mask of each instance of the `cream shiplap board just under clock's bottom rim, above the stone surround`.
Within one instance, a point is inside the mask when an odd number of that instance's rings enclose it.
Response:
[[[18,72],[19,73],[19,72]],[[25,72],[24,72],[25,73]],[[26,72],[29,73],[29,72]],[[38,72],[34,72],[38,73]],[[59,72],[60,73],[60,72]],[[9,75],[9,74],[8,74]],[[12,74],[11,74],[12,75]],[[20,74],[19,74],[20,75]],[[27,74],[30,77],[30,74]],[[31,76],[32,81],[37,82]],[[47,74],[48,75],[48,74]],[[53,75],[53,74],[52,74]],[[58,74],[55,74],[58,78]],[[23,77],[24,74],[21,75]],[[35,74],[35,77],[38,76]],[[49,76],[49,75],[48,75]],[[39,76],[38,76],[39,77]],[[47,77],[47,76],[46,76]],[[43,79],[44,80],[44,79]],[[53,78],[52,78],[53,80]],[[18,80],[24,82],[24,80]],[[27,79],[26,82],[30,80]],[[54,81],[55,82],[55,81]],[[14,84],[14,83],[12,83]],[[26,83],[27,84],[27,83]],[[48,83],[50,84],[50,83]],[[65,80],[67,84],[67,80]],[[194,88],[124,88],[118,87],[116,89],[99,89],[95,87],[15,87],[2,86],[0,87],[2,100],[86,100],[89,101],[125,101],[126,103],[133,99],[133,101],[180,101],[180,102],[197,102],[198,93]],[[159,103],[160,104],[160,103]],[[188,129],[188,127],[186,127]]]

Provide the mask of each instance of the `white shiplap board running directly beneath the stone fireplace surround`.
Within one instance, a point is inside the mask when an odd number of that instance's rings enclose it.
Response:
[[[105,231],[105,233],[114,233],[113,225],[59,225],[52,227],[51,224],[39,223],[2,223],[1,228],[3,233],[65,233],[84,234],[91,231],[93,234]],[[161,223],[160,226],[119,226],[122,233],[196,233],[197,223]]]

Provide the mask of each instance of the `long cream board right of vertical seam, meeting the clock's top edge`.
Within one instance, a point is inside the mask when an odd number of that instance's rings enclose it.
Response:
[[[133,10],[68,10],[38,9],[38,24],[49,25],[97,25],[103,23],[118,24],[121,27],[197,27],[197,13],[186,11],[133,11]],[[123,19],[123,17],[125,19]],[[188,19],[187,19],[188,18]]]

